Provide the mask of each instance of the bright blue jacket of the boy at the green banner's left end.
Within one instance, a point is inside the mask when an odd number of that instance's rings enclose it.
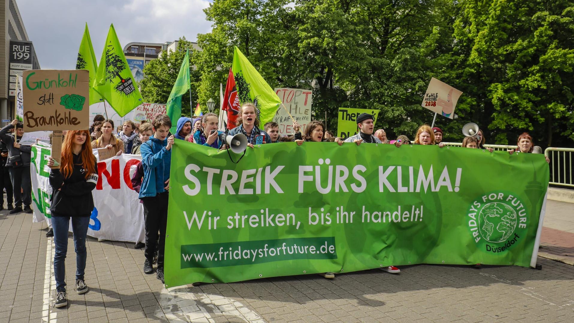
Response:
[[[156,196],[157,193],[166,192],[165,181],[169,178],[169,166],[172,161],[172,151],[165,150],[168,139],[150,138],[139,146],[144,165],[144,179],[139,188],[139,199]]]

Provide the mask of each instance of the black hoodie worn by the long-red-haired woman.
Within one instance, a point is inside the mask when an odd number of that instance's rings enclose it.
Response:
[[[90,216],[94,210],[92,190],[98,183],[98,164],[95,173],[86,180],[86,170],[82,166],[82,155],[73,155],[73,172],[68,178],[59,169],[50,171],[52,186],[52,216]],[[94,157],[95,159],[95,157]]]

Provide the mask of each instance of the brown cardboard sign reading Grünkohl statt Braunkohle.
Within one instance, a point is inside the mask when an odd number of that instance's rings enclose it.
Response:
[[[90,126],[88,71],[24,71],[24,129],[83,130]]]

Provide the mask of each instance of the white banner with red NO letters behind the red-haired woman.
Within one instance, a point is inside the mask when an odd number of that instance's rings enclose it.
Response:
[[[51,223],[52,188],[48,182],[50,155],[48,147],[32,146],[33,222]],[[141,155],[122,154],[98,162],[99,179],[96,189],[92,191],[95,207],[88,225],[89,236],[114,241],[145,241],[143,204],[139,203],[138,193],[131,188],[131,175],[140,160]]]

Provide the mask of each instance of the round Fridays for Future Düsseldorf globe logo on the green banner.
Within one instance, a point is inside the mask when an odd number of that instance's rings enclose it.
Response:
[[[468,209],[468,228],[484,251],[503,252],[526,233],[528,212],[512,193],[491,192],[480,196]]]

